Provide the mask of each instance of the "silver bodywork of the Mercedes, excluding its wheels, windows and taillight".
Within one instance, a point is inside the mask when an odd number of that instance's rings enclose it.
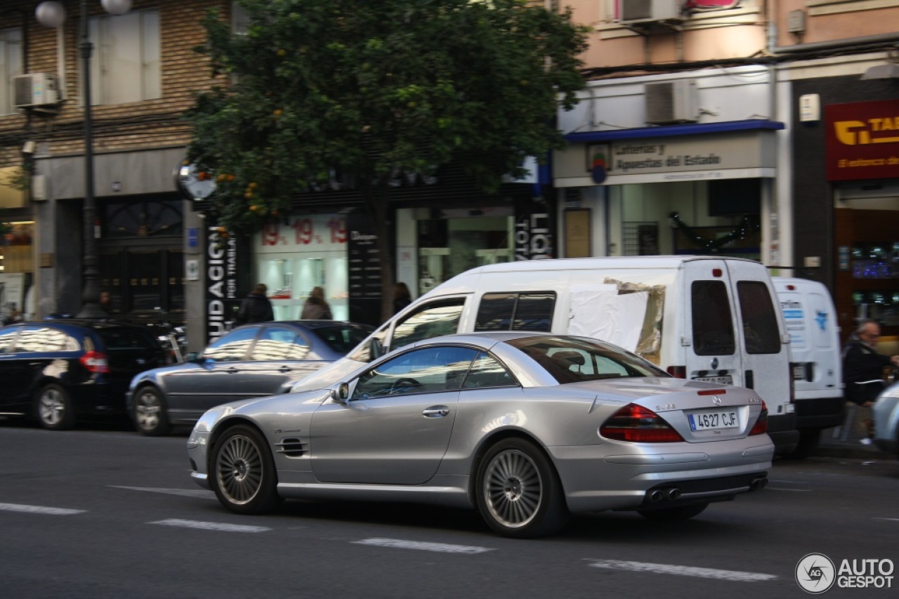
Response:
[[[752,475],[770,469],[770,438],[748,436],[762,409],[751,389],[663,376],[560,385],[526,355],[495,344],[516,336],[521,334],[453,335],[452,340],[490,348],[515,374],[518,387],[348,402],[335,400],[331,389],[316,389],[213,408],[200,418],[188,442],[192,477],[209,488],[210,439],[237,421],[250,422],[264,434],[274,456],[278,492],[293,498],[470,506],[479,455],[508,434],[528,437],[547,452],[573,512],[636,509],[656,485],[684,485],[684,498],[729,498],[748,491]],[[395,353],[343,380],[352,381]],[[628,443],[601,437],[600,426],[628,403],[662,416],[685,441]],[[734,428],[690,429],[690,413],[727,407],[737,416]],[[433,408],[440,408],[441,416],[434,417]],[[708,479],[720,483],[690,490],[690,481]]]

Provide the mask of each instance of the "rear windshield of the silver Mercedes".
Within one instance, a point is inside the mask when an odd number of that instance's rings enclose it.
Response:
[[[527,353],[559,383],[668,376],[617,345],[583,337],[523,337],[506,343]]]

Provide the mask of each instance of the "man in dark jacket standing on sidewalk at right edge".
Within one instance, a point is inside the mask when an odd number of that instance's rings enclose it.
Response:
[[[842,349],[843,393],[856,407],[852,425],[861,429],[861,443],[871,443],[871,406],[886,386],[884,369],[899,366],[899,355],[877,353],[879,338],[877,321],[862,320]]]

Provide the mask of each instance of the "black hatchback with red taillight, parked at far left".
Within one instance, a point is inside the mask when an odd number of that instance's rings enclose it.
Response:
[[[139,372],[165,364],[146,326],[59,319],[0,328],[0,415],[71,428],[84,416],[124,415]]]

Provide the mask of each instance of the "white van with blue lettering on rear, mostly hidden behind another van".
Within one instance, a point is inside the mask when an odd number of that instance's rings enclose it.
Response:
[[[772,277],[790,335],[799,444],[791,456],[806,457],[821,431],[843,423],[842,361],[837,310],[827,287],[816,281]]]

